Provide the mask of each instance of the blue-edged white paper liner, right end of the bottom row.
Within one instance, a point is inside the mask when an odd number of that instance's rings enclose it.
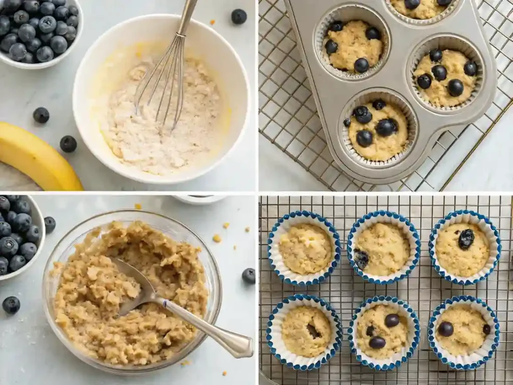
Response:
[[[467,304],[471,306],[472,309],[479,311],[492,330],[492,333],[486,336],[481,348],[468,356],[453,356],[439,345],[436,338],[438,317],[455,304]],[[485,301],[471,296],[459,296],[446,299],[433,311],[433,314],[429,318],[429,324],[427,325],[427,340],[433,352],[435,352],[443,363],[446,363],[452,369],[458,370],[476,369],[488,361],[494,355],[499,345],[499,334],[499,320],[495,312]]]

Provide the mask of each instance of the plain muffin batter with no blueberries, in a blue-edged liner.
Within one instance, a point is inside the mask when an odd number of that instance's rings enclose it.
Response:
[[[333,259],[330,237],[309,223],[290,227],[280,237],[278,249],[285,266],[298,274],[318,273]]]

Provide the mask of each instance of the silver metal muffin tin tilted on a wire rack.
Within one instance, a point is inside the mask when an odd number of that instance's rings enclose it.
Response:
[[[285,0],[285,6],[331,155],[353,178],[386,184],[407,177],[424,162],[444,131],[476,121],[494,100],[497,66],[471,1],[453,0],[445,12],[430,22],[399,16],[388,0]],[[388,41],[382,60],[368,74],[348,76],[326,63],[322,38],[337,15],[346,22],[363,20],[377,27]],[[418,61],[434,47],[462,51],[478,64],[476,89],[459,106],[430,105],[420,97],[412,79]],[[348,112],[355,103],[368,100],[369,94],[389,94],[403,112],[409,112],[409,121],[416,123],[410,124],[407,148],[389,161],[364,159],[347,138],[343,121],[349,118]]]

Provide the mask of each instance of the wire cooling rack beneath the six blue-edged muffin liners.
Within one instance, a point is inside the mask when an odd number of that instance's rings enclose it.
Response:
[[[473,286],[453,285],[441,278],[430,265],[428,238],[432,227],[450,211],[471,209],[490,218],[502,240],[501,260],[488,279]],[[432,196],[345,196],[345,197],[261,197],[260,200],[260,350],[261,372],[279,385],[340,384],[484,384],[513,383],[513,268],[510,267],[511,196],[432,197]],[[377,209],[396,211],[408,218],[421,238],[421,259],[409,278],[390,285],[366,283],[353,273],[345,257],[345,243],[352,224]],[[306,290],[284,284],[271,271],[267,260],[267,238],[279,217],[295,210],[310,210],[327,218],[338,230],[343,253],[340,266],[327,282]],[[327,300],[342,319],[342,349],[319,370],[294,371],[270,354],[265,329],[273,307],[297,293],[313,294]],[[350,353],[347,328],[354,310],[375,295],[406,300],[421,323],[421,343],[412,358],[390,372],[375,372],[361,365]],[[472,295],[484,299],[497,312],[501,336],[494,357],[472,371],[451,370],[429,348],[426,325],[431,312],[452,296]],[[273,383],[273,382],[271,382]],[[261,382],[261,385],[262,382]]]

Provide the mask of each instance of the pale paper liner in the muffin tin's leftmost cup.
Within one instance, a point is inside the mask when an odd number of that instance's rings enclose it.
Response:
[[[326,31],[328,30],[329,25],[337,20],[343,22],[361,20],[372,27],[376,27],[380,31],[381,41],[383,42],[383,53],[378,63],[372,67],[369,67],[369,70],[367,72],[344,72],[340,69],[334,68],[329,62],[329,55],[326,52],[326,48],[324,47]],[[330,74],[343,80],[356,81],[366,79],[369,76],[372,76],[373,74],[377,73],[380,70],[380,68],[383,67],[390,54],[390,30],[388,29],[388,26],[386,25],[384,19],[372,9],[361,4],[346,4],[329,12],[326,16],[322,18],[317,29],[315,30],[313,38],[313,44],[316,48],[315,51],[317,52],[318,59],[321,62],[322,66]]]

